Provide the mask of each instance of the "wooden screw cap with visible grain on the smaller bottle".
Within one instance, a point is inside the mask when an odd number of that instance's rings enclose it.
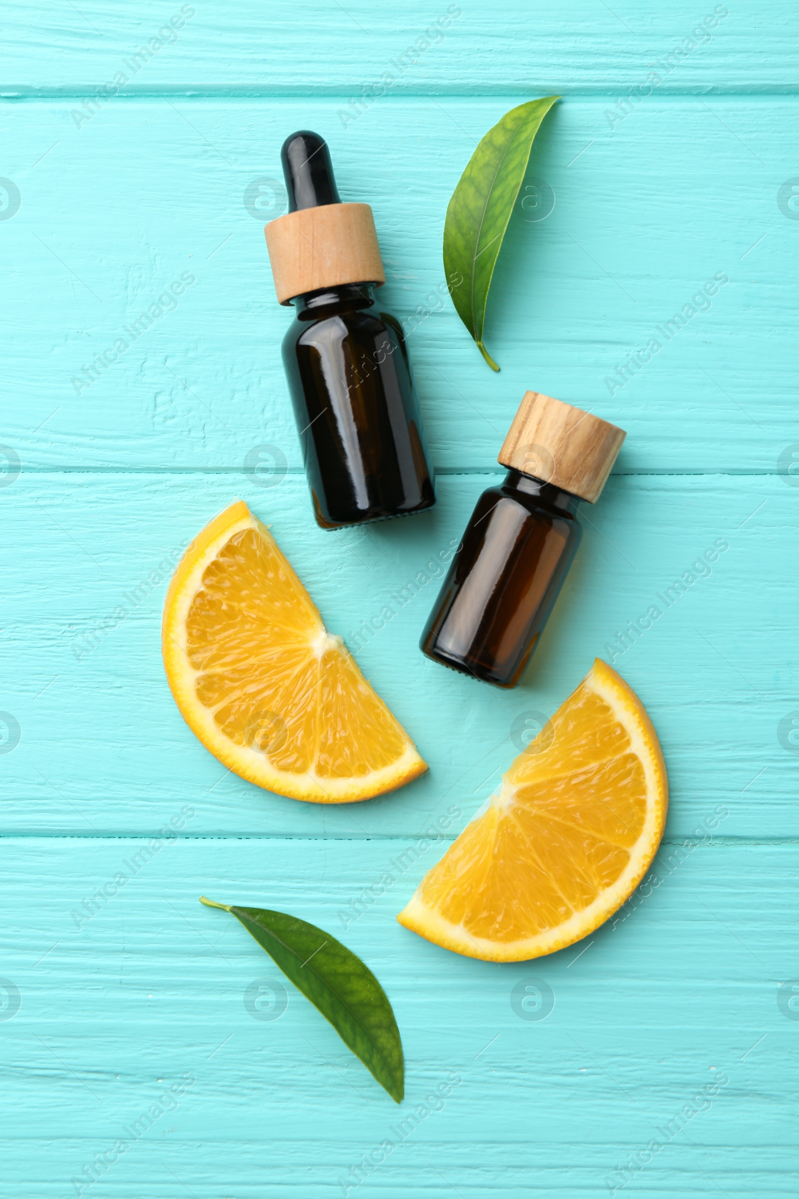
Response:
[[[625,436],[581,408],[526,391],[497,462],[595,504]]]

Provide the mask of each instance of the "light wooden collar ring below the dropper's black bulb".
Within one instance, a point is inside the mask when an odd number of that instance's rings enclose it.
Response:
[[[344,283],[386,282],[368,204],[299,209],[264,228],[280,303]]]

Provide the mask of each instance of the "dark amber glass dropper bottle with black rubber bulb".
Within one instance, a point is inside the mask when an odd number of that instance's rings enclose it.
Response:
[[[368,204],[343,204],[327,144],[301,131],[282,150],[289,211],[266,225],[314,514],[323,529],[435,504],[402,326],[375,308],[386,282]]]

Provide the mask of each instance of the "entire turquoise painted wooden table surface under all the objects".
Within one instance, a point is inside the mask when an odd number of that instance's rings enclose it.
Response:
[[[795,1194],[791,8],[7,6],[4,1199]],[[486,129],[551,94],[489,306],[495,375],[442,297],[444,212]],[[429,516],[323,532],[307,508],[279,357],[290,317],[262,234],[284,203],[280,143],[302,127],[329,140],[343,197],[373,204],[382,300],[414,317]],[[695,299],[714,278],[713,300]],[[497,477],[526,388],[628,439],[534,668],[498,692],[417,640],[429,564]],[[265,445],[280,469],[259,477]],[[359,645],[424,778],[319,808],[225,773],[189,733],[161,662],[169,562],[236,496]],[[718,538],[728,549],[692,570]],[[110,627],[123,597],[131,615]],[[425,830],[447,812],[447,838],[461,830],[517,752],[514,727],[551,713],[594,656],[641,695],[666,755],[656,885],[532,963],[400,928],[442,849]],[[401,1108],[201,892],[291,911],[370,964],[402,1034]],[[533,1013],[513,999],[529,978],[546,999]]]

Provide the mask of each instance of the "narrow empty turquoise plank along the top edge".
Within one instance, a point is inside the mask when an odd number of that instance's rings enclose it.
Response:
[[[40,0],[36,36],[29,8],[17,0],[8,10],[4,91],[12,95],[75,85],[90,91],[114,84],[117,72],[128,78],[116,80],[121,95],[217,88],[349,97],[381,80],[392,91],[432,95],[529,95],[564,85],[623,94],[646,82],[654,60],[665,61],[661,86],[668,89],[795,88],[797,34],[786,0],[767,8],[753,0],[672,0],[650,10],[632,0],[612,8],[589,0],[557,8],[508,0],[501,19],[490,5],[446,0],[350,0],[343,7],[310,0],[301,10],[276,0],[268,12],[256,0],[232,10],[223,0],[123,8],[108,0],[85,0],[79,8]],[[180,25],[181,13],[186,20],[170,35],[171,18]]]

